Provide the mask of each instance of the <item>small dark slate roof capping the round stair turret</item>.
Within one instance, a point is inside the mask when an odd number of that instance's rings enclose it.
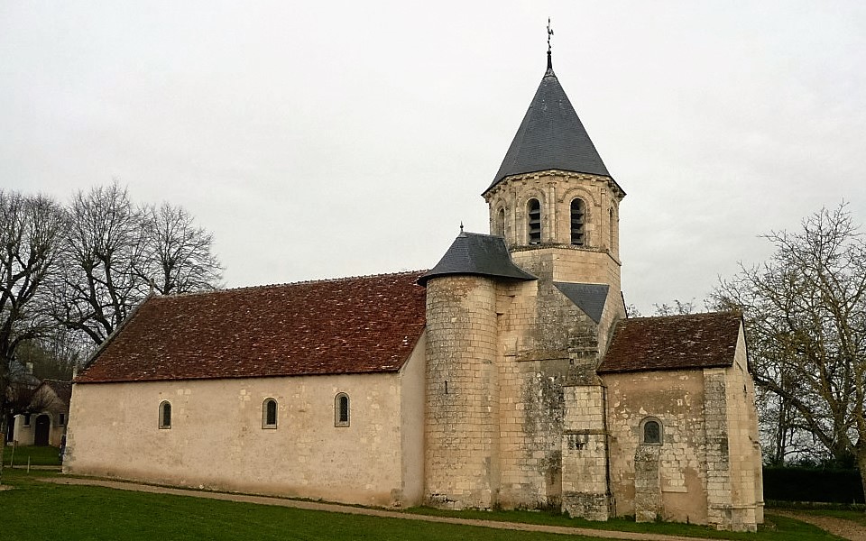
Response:
[[[514,264],[502,237],[464,231],[457,235],[436,266],[418,282],[423,286],[431,278],[454,274],[538,280]]]

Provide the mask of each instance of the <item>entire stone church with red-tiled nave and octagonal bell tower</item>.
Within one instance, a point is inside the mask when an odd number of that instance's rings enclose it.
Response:
[[[147,298],[75,381],[66,471],[754,530],[741,316],[626,316],[625,192],[549,54],[491,234],[430,271]]]

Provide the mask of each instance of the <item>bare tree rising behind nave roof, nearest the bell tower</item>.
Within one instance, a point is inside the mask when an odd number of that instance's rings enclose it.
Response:
[[[213,234],[195,225],[180,206],[143,208],[143,258],[138,276],[161,295],[215,289],[222,268],[211,252]]]

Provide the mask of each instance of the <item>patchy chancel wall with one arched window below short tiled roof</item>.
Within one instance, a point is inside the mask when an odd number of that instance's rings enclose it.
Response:
[[[704,374],[702,371],[653,371],[604,374],[611,440],[611,481],[617,516],[655,513],[647,491],[655,490],[662,518],[707,523]],[[642,443],[641,423],[656,419],[660,445]],[[649,447],[649,449],[648,449]],[[655,461],[655,462],[653,462]],[[638,476],[636,471],[640,465]],[[654,470],[655,468],[655,470]],[[653,517],[654,518],[654,517]]]

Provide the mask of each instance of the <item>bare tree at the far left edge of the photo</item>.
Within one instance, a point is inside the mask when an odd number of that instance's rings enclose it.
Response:
[[[51,326],[45,293],[62,229],[50,198],[0,190],[0,433],[15,352]]]

